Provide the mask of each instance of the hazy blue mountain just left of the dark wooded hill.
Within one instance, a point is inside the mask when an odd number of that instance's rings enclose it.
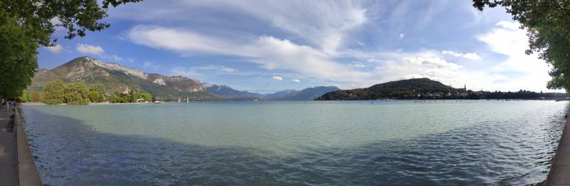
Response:
[[[313,88],[305,88],[301,91],[285,90],[266,94],[264,100],[314,100],[324,93],[338,90],[341,89],[336,86],[316,86]]]

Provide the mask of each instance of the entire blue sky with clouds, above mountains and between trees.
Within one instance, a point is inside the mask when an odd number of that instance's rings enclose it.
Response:
[[[57,21],[57,20],[53,20]],[[143,1],[110,29],[41,48],[40,68],[79,56],[260,93],[431,78],[485,91],[547,91],[504,9],[471,1]]]

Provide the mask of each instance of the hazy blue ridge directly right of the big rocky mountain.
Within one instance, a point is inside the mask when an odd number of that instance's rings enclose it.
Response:
[[[216,95],[219,98],[227,100],[256,100],[261,99],[261,94],[250,93],[248,91],[237,91],[234,88],[224,85],[209,85],[204,84],[206,91]]]

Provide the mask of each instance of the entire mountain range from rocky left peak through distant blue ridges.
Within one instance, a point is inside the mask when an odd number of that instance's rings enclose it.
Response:
[[[118,63],[103,63],[95,58],[79,57],[51,70],[40,68],[28,86],[28,91],[41,91],[49,81],[83,81],[88,86],[101,83],[106,94],[115,91],[143,91],[162,100],[313,100],[328,91],[337,91],[333,86],[305,88],[301,91],[286,90],[270,94],[238,91],[224,85],[212,85],[184,76],[163,76],[145,73],[138,68],[128,68]]]

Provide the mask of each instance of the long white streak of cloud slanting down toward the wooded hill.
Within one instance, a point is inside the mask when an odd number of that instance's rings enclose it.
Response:
[[[245,58],[268,70],[286,69],[313,78],[358,81],[371,74],[354,71],[333,56],[311,46],[298,45],[286,39],[260,36],[253,41],[239,42],[231,38],[213,38],[192,31],[160,26],[136,26],[128,38],[152,48],[178,51],[190,56],[199,53],[221,54]]]

